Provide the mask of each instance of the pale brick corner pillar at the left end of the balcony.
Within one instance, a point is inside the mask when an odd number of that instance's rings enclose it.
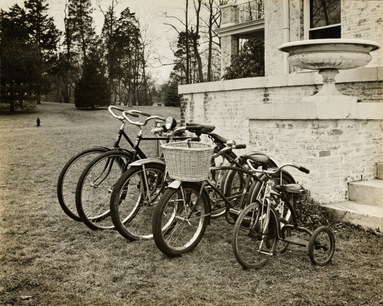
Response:
[[[221,28],[234,25],[236,22],[236,5],[228,3],[221,6]],[[221,36],[221,77],[225,68],[230,66],[232,56],[239,53],[238,37],[234,35]]]

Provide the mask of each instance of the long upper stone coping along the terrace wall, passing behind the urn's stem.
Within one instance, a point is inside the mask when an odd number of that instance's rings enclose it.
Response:
[[[383,67],[340,70],[335,78],[337,83],[383,81]],[[244,78],[217,82],[178,85],[178,94],[241,90],[252,88],[304,86],[323,84],[318,71],[297,72],[287,75],[270,75],[259,78]]]

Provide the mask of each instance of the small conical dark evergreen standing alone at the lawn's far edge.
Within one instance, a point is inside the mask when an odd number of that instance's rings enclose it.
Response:
[[[75,107],[95,109],[109,105],[111,92],[105,70],[99,50],[90,50],[89,57],[83,65],[83,74],[75,84]]]

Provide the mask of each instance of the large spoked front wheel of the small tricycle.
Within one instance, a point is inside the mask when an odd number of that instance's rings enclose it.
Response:
[[[266,220],[266,206],[260,203],[248,205],[238,216],[233,230],[233,251],[244,269],[264,265],[272,256],[277,243],[277,221],[270,211]],[[272,208],[271,208],[272,209]]]

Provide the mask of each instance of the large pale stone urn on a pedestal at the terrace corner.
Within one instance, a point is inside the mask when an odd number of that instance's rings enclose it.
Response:
[[[312,39],[284,43],[279,50],[289,53],[287,61],[302,69],[318,70],[323,78],[322,89],[315,96],[343,95],[335,87],[335,75],[340,69],[367,65],[370,52],[380,45],[364,39]]]

